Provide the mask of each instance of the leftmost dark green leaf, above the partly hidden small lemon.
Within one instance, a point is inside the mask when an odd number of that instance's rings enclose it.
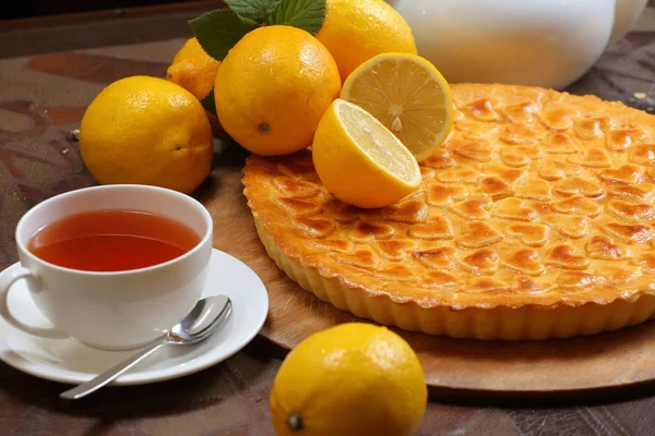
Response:
[[[230,48],[258,24],[243,19],[229,9],[207,12],[189,22],[201,47],[212,58],[222,61]]]

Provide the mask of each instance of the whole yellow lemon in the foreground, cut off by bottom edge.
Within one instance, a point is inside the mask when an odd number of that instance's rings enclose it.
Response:
[[[279,436],[410,436],[427,405],[425,375],[400,336],[348,323],[305,339],[271,391]]]

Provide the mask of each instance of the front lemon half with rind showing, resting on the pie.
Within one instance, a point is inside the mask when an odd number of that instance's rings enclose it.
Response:
[[[325,187],[354,206],[390,205],[421,181],[407,147],[366,110],[340,98],[319,122],[312,156]]]

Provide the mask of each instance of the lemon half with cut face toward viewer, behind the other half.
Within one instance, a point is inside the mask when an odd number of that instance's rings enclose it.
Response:
[[[419,161],[430,157],[453,128],[448,82],[416,55],[382,53],[364,62],[344,82],[341,98],[380,120]]]

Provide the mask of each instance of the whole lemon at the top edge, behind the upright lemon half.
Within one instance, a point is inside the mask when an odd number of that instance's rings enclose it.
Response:
[[[416,55],[412,28],[383,0],[327,0],[325,21],[317,39],[334,57],[342,81],[373,56]]]

